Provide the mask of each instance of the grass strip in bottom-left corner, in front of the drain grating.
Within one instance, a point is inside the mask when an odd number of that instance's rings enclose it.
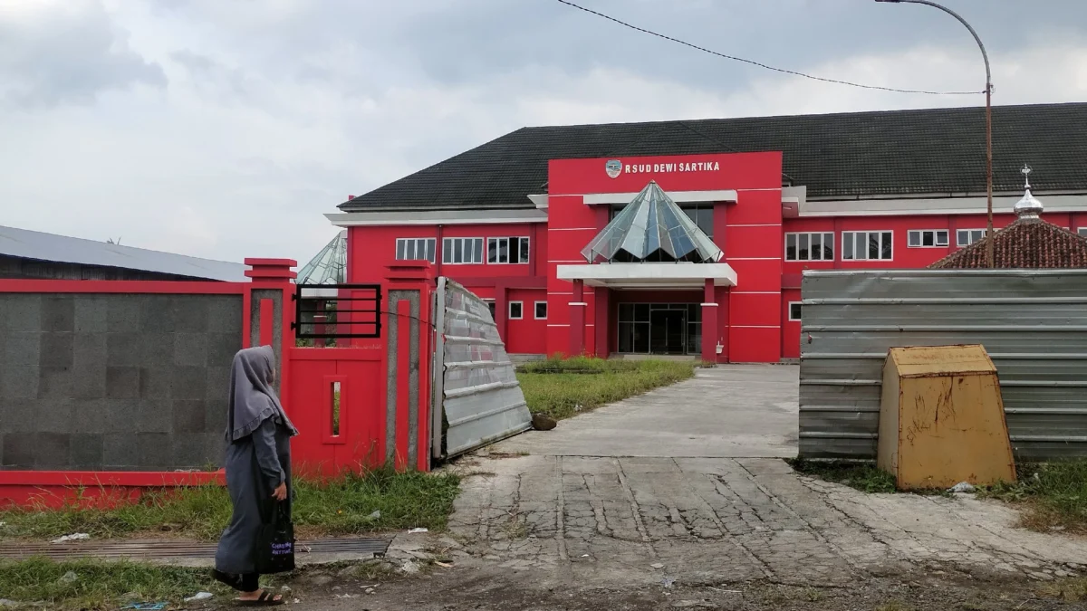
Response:
[[[52,562],[40,558],[0,561],[0,593],[4,598],[41,601],[49,609],[115,609],[122,599],[179,603],[198,591],[228,590],[212,579],[207,569],[127,561]]]

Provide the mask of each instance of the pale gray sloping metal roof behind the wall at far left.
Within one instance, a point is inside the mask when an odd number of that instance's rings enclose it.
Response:
[[[241,263],[197,259],[55,234],[0,226],[0,254],[82,265],[155,272],[189,278],[247,282]]]

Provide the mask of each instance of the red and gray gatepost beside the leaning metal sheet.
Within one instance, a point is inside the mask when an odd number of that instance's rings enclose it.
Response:
[[[397,469],[428,471],[434,267],[399,261],[385,279],[386,459]]]

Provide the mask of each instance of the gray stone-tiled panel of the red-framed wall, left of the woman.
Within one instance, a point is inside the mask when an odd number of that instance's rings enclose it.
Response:
[[[0,294],[0,469],[222,462],[240,296]]]

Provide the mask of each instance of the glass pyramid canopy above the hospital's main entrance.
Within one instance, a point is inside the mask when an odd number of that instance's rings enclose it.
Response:
[[[723,253],[664,190],[650,180],[582,250],[589,263],[689,261],[715,263]]]

